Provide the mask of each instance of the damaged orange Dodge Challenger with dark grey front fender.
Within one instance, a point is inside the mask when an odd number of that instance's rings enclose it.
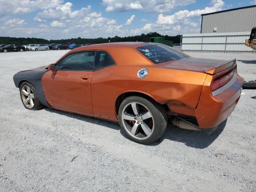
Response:
[[[117,42],[76,48],[13,77],[25,108],[44,106],[119,122],[148,144],[174,125],[213,132],[234,110],[244,79],[236,59],[193,58],[169,46]]]

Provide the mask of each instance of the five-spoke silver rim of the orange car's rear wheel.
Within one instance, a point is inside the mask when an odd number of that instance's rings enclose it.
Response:
[[[149,138],[155,128],[154,117],[146,106],[139,102],[130,102],[122,110],[122,124],[133,138]]]

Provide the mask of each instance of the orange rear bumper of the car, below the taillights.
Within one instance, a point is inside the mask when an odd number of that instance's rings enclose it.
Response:
[[[195,109],[195,116],[199,128],[206,132],[213,132],[219,124],[224,122],[233,112],[242,92],[244,79],[237,73],[228,88],[221,92],[212,92],[210,84],[212,76],[208,75],[202,88],[202,93]],[[230,80],[232,81],[232,80]],[[224,87],[224,86],[223,86]],[[208,130],[207,130],[208,129]]]

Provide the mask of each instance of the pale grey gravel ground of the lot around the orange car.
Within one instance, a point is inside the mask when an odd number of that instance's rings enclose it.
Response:
[[[128,140],[113,122],[26,110],[12,76],[63,51],[0,53],[0,191],[256,191],[256,90],[243,90],[226,127],[210,135],[169,125],[154,144]],[[256,54],[188,53],[238,60],[256,80]]]

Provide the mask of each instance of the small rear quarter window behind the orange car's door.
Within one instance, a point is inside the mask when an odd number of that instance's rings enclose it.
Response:
[[[115,64],[110,55],[105,51],[96,52],[96,60],[94,64],[94,70],[111,66]]]

